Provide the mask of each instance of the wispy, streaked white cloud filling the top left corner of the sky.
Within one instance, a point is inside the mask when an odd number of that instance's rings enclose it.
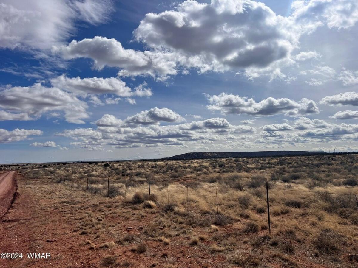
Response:
[[[106,22],[110,0],[4,0],[0,4],[0,47],[49,50],[76,31],[76,21]]]

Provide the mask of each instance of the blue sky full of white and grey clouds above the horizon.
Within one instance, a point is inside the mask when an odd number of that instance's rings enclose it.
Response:
[[[0,4],[0,163],[358,150],[353,0]]]

